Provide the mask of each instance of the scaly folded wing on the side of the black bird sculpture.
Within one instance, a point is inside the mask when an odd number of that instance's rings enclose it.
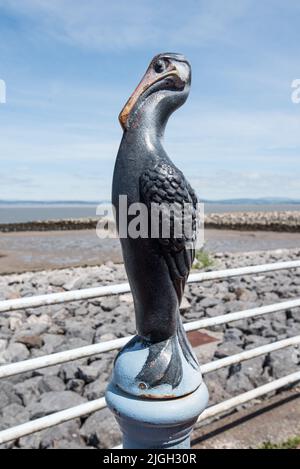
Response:
[[[165,162],[143,172],[140,177],[140,191],[149,213],[153,204],[155,207],[156,204],[162,204],[157,240],[180,303],[195,258],[197,196],[182,172]],[[169,211],[170,206],[174,211]],[[166,215],[169,213],[170,234],[166,236],[163,225],[166,226]],[[184,226],[184,217],[190,222],[186,226]],[[178,234],[178,227],[182,233]]]

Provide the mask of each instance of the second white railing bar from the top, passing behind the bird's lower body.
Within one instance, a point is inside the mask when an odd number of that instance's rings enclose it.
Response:
[[[215,325],[228,324],[230,322],[238,321],[240,319],[257,317],[264,314],[271,314],[273,312],[283,311],[285,309],[293,309],[300,306],[300,299],[284,301],[277,304],[268,306],[261,306],[259,308],[238,311],[235,313],[228,313],[214,318],[200,319],[190,323],[185,323],[184,328],[187,332],[204,329]],[[49,366],[60,365],[69,361],[78,360],[81,358],[88,358],[93,355],[98,355],[103,352],[117,350],[132,338],[133,336],[124,337],[121,339],[110,340],[100,344],[88,345],[73,350],[66,350],[64,352],[53,353],[43,357],[32,358],[22,362],[11,363],[9,365],[2,365],[0,367],[0,378],[8,378],[15,376],[19,373],[34,371]]]

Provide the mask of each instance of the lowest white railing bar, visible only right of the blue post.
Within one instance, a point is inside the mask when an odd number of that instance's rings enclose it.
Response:
[[[280,388],[288,386],[289,384],[294,384],[297,381],[300,381],[300,371],[296,371],[295,373],[284,376],[283,378],[276,379],[271,383],[264,384],[263,386],[259,386],[256,389],[252,389],[251,391],[247,391],[243,394],[232,397],[227,401],[223,401],[219,404],[208,407],[200,415],[198,422],[203,422],[209,418],[216,417],[217,415],[228,412],[229,410],[234,409],[241,404],[245,404],[246,402],[252,401],[253,399],[268,394],[269,392],[276,391]]]

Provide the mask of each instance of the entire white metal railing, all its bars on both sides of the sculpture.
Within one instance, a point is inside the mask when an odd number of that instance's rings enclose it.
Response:
[[[243,267],[237,269],[228,269],[215,272],[205,272],[200,274],[193,274],[189,278],[189,283],[207,281],[207,280],[220,280],[224,278],[231,278],[240,275],[255,275],[266,272],[272,272],[283,269],[299,268],[300,261],[292,262],[281,262],[275,264]],[[53,305],[64,303],[67,301],[82,301],[92,298],[98,298],[103,296],[111,296],[121,293],[127,293],[130,291],[128,284],[123,285],[108,285],[99,288],[90,288],[86,290],[77,290],[66,293],[54,293],[49,295],[36,296],[33,298],[21,298],[17,300],[8,300],[0,302],[0,312],[16,311],[24,308],[37,308],[45,305]],[[245,311],[239,311],[235,313],[228,313],[225,315],[217,316],[214,318],[201,319],[186,323],[184,325],[187,332],[194,331],[203,328],[209,328],[216,325],[227,324],[240,319],[254,318],[261,315],[271,314],[274,312],[284,311],[292,308],[300,307],[300,299],[283,301],[281,303],[261,306]],[[100,344],[90,345],[86,347],[80,347],[73,350],[67,350],[43,357],[38,357],[30,360],[25,360],[18,363],[12,363],[9,365],[3,365],[0,367],[0,378],[8,378],[15,376],[20,373],[33,371],[40,368],[45,368],[53,365],[66,363],[69,361],[91,357],[98,355],[99,353],[108,352],[111,350],[117,350],[123,347],[129,340],[130,337],[124,337],[121,339],[111,340]],[[241,363],[245,360],[249,360],[255,357],[259,357],[268,353],[272,353],[276,350],[281,350],[286,347],[291,347],[300,344],[300,335],[291,337],[288,339],[273,342],[268,345],[247,350],[230,357],[215,360],[210,363],[206,363],[201,366],[201,371],[205,375],[213,371],[217,371],[221,368]],[[292,373],[283,378],[272,381],[271,383],[260,386],[254,390],[248,391],[244,394],[240,394],[232,399],[221,402],[214,406],[206,409],[199,418],[199,422],[202,422],[208,418],[215,417],[224,412],[228,412],[237,406],[246,403],[252,399],[263,396],[271,391],[278,390],[287,385],[293,384],[300,381],[300,371]],[[42,417],[16,427],[3,430],[0,432],[0,444],[7,443],[12,440],[19,439],[23,436],[35,433],[46,428],[53,427],[60,423],[72,420],[74,418],[82,417],[91,414],[95,411],[99,411],[106,407],[105,399],[100,398],[94,401],[81,404],[79,406],[66,409],[60,412],[56,412],[52,415]]]

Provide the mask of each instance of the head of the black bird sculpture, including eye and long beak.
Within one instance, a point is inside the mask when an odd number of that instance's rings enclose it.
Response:
[[[191,84],[191,66],[181,54],[159,54],[151,61],[144,77],[119,115],[124,130],[138,119],[137,111],[147,102],[159,103],[162,118],[186,101]],[[143,109],[144,111],[144,109]]]

